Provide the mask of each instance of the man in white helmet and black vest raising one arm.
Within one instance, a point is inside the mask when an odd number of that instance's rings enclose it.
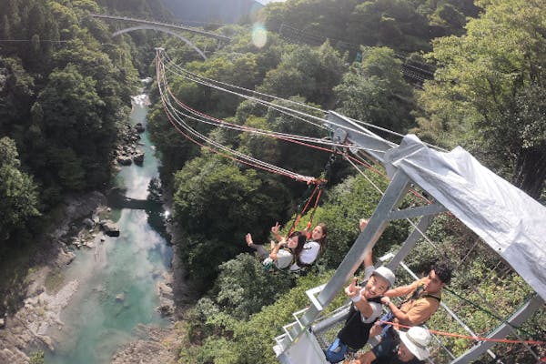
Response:
[[[360,230],[366,225],[360,220]],[[330,363],[345,359],[346,354],[362,349],[369,339],[369,329],[381,316],[381,298],[393,286],[395,276],[389,268],[374,268],[371,251],[364,258],[364,283],[357,285],[353,278],[345,293],[352,300],[349,316],[345,325],[339,330],[338,337],[325,351]]]

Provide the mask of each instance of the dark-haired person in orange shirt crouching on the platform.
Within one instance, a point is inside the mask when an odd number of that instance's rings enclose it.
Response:
[[[450,266],[439,262],[430,269],[426,277],[408,286],[389,289],[381,301],[390,309],[390,312],[380,320],[406,326],[422,325],[440,307],[441,289],[450,283],[451,270]],[[396,306],[390,298],[400,296],[406,296],[406,299],[401,305]],[[369,336],[377,336],[379,332],[381,332],[381,340],[396,339],[396,333],[391,325],[376,323],[370,330]]]

